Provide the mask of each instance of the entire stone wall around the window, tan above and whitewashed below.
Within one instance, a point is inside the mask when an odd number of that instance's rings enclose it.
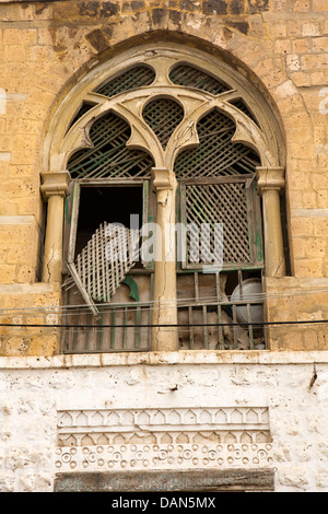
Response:
[[[60,284],[39,282],[47,129],[91,69],[159,40],[234,66],[280,122],[291,276],[265,288],[267,320],[286,324],[271,351],[58,355]],[[140,469],[328,491],[327,42],[327,0],[0,0],[1,491]]]

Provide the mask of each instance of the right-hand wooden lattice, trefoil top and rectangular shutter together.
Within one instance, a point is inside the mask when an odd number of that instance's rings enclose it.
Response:
[[[221,257],[225,268],[262,266],[260,209],[254,180],[260,161],[253,149],[233,141],[235,130],[231,118],[212,109],[198,121],[199,145],[176,159],[181,221],[191,226],[186,233],[185,267],[213,264],[218,224],[223,229]],[[201,241],[204,225],[210,227],[211,237],[207,246],[196,248],[195,233]],[[197,258],[199,264],[195,265]]]

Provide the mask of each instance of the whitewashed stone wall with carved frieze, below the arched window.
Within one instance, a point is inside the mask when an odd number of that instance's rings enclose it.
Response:
[[[58,474],[78,488],[81,474],[226,469],[328,491],[327,352],[1,358],[0,370],[3,492],[50,492]]]

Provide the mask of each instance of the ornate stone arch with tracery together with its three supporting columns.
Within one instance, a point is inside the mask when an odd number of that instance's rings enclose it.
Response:
[[[129,82],[136,70],[142,75],[144,69],[140,71],[140,67],[147,68],[151,77],[138,79],[134,85],[131,82],[130,86],[116,89],[120,78],[125,77]],[[149,120],[144,116],[147,108],[163,98],[179,106],[183,113],[178,122],[169,127],[165,144],[150,122],[152,113]],[[263,196],[266,273],[284,274],[279,205],[279,191],[284,186],[284,151],[279,125],[270,107],[243,73],[225,61],[183,45],[149,43],[121,52],[86,73],[72,86],[50,120],[45,138],[42,186],[48,199],[45,281],[60,280],[63,197],[71,179],[67,170],[72,155],[93,148],[90,131],[94,124],[113,113],[130,127],[126,148],[152,156],[156,221],[164,227],[165,223],[175,221],[177,179],[174,163],[180,153],[199,145],[197,125],[213,109],[233,121],[235,130],[231,143],[239,143],[258,155],[256,178]],[[177,323],[173,301],[176,299],[175,257],[173,249],[171,253],[172,258],[155,262],[153,323],[156,326]],[[87,300],[86,293],[85,297]],[[176,330],[162,336],[161,330],[154,330],[153,349],[176,347]]]

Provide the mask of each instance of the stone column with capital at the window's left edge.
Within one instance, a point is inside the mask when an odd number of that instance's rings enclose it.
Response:
[[[42,194],[48,202],[43,282],[61,282],[63,202],[70,182],[69,172],[43,173]]]

